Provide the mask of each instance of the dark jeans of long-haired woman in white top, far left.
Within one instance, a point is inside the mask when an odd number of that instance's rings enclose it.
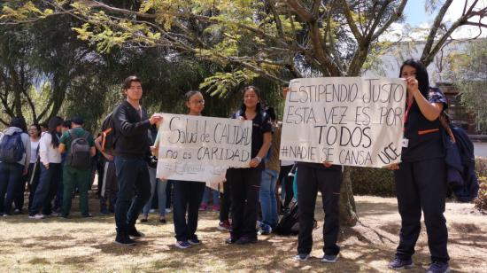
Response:
[[[59,183],[62,177],[61,163],[49,163],[49,169],[41,163],[41,177],[39,184],[35,189],[32,206],[29,209],[29,215],[38,214],[43,209],[43,214],[52,214],[52,199],[58,191]]]

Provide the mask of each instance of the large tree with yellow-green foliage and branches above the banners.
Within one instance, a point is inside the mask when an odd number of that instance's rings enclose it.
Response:
[[[127,2],[127,3],[126,3]],[[437,4],[437,1],[429,1]],[[485,27],[487,10],[477,0],[465,1],[452,24],[445,0],[426,40],[421,60],[429,65],[452,32],[464,25]],[[35,5],[35,4],[38,5]],[[226,73],[207,78],[203,86],[224,94],[257,77],[286,85],[291,78],[358,76],[367,58],[381,47],[379,37],[403,19],[406,0],[147,0],[16,1],[4,7],[5,23],[70,14],[85,23],[74,28],[81,40],[99,51],[113,47],[163,47],[211,61]],[[43,7],[43,8],[39,8]],[[358,217],[349,171],[345,171],[341,213],[346,224]]]

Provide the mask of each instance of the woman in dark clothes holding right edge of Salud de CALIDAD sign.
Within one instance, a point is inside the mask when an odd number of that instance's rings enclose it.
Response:
[[[255,226],[259,210],[260,180],[264,170],[262,159],[271,146],[273,126],[269,115],[260,105],[259,90],[253,86],[243,89],[243,104],[232,118],[252,121],[251,163],[250,168],[228,169],[232,230],[226,243],[246,245],[257,242]]]

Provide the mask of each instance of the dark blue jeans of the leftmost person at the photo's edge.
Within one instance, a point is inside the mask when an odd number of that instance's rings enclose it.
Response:
[[[0,162],[0,214],[10,214],[24,166],[19,163]],[[5,198],[6,193],[6,198]]]

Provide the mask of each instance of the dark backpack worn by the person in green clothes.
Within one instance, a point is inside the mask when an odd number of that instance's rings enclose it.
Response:
[[[90,146],[88,143],[89,132],[85,131],[83,136],[76,136],[73,129],[68,130],[71,136],[71,146],[67,154],[66,164],[73,168],[89,168],[91,155],[89,154]]]

